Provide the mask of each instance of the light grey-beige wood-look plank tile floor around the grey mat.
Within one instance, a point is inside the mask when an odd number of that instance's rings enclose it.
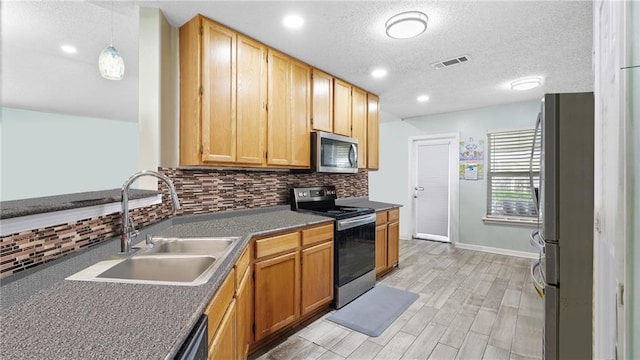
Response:
[[[326,320],[332,311],[250,359],[540,359],[543,300],[530,263],[401,240],[400,267],[380,282],[420,298],[379,337]]]

